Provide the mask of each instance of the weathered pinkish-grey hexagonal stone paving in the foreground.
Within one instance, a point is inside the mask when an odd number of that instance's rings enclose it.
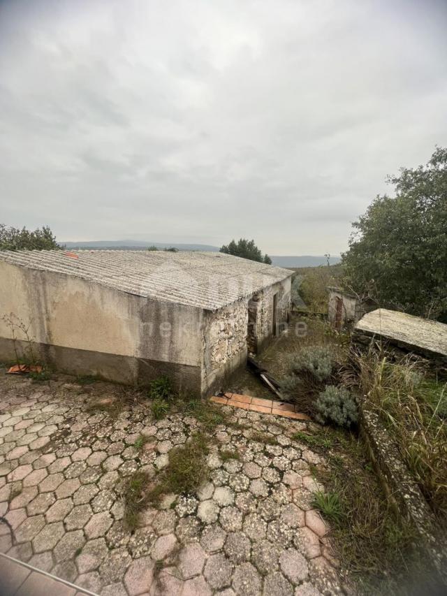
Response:
[[[89,408],[117,397],[128,405],[115,417]],[[66,377],[33,384],[0,369],[0,552],[102,596],[342,593],[328,528],[312,509],[322,487],[309,465],[324,462],[291,439],[309,423],[219,407],[240,425],[217,427],[210,481],[149,507],[129,532],[123,479],[156,477],[197,421],[154,422],[129,389]],[[153,439],[142,449],[140,435]],[[240,460],[223,461],[223,449]]]

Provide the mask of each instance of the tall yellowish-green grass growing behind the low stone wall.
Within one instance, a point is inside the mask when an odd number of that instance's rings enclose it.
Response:
[[[447,384],[410,357],[356,356],[360,391],[381,415],[409,471],[447,524]]]

